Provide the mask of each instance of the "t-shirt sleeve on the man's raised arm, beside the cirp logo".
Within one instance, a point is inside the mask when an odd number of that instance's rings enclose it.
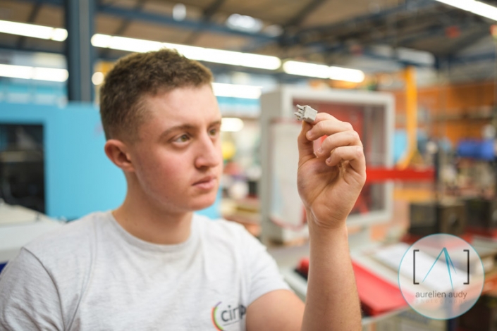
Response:
[[[249,256],[248,274],[250,275],[250,293],[248,304],[268,292],[276,289],[288,289],[290,287],[283,280],[278,270],[276,261],[269,255],[266,246],[254,238],[248,232],[245,241],[247,242],[246,252]]]

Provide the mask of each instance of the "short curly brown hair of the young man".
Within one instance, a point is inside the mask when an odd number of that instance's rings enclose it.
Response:
[[[145,96],[179,87],[210,85],[212,73],[176,49],[135,53],[117,61],[100,88],[100,117],[106,139],[135,142],[145,122]]]

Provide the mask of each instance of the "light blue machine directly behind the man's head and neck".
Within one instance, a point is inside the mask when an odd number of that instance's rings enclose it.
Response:
[[[123,202],[125,177],[104,153],[104,131],[96,106],[0,103],[1,124],[43,126],[48,216],[73,220],[93,211],[116,208]],[[200,213],[219,218],[218,210],[219,199]]]

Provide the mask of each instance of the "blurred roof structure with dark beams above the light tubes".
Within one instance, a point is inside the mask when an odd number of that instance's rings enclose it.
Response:
[[[0,0],[0,20],[65,27],[67,1]],[[350,68],[362,65],[360,69],[370,73],[388,71],[381,63],[437,69],[488,63],[495,58],[490,34],[493,20],[434,0],[94,1],[95,33],[245,51],[282,60]],[[497,6],[496,0],[486,3]],[[184,18],[174,15],[178,4],[186,9]],[[233,14],[256,18],[261,23],[260,30],[229,27],[226,23]],[[65,44],[0,33],[0,49],[4,50],[64,54]],[[466,51],[474,45],[475,50]],[[422,53],[405,55],[406,50]],[[95,52],[96,58],[103,60],[124,54],[125,51],[99,48]],[[427,55],[429,59],[425,61]],[[357,58],[361,65],[357,65]],[[233,70],[233,65],[209,63],[209,67],[215,73]],[[284,75],[281,70],[269,74]]]

